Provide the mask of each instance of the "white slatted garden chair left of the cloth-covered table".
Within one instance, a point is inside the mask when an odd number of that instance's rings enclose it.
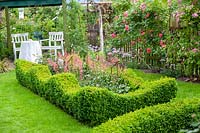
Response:
[[[11,34],[13,43],[14,59],[17,59],[17,51],[20,52],[21,42],[28,41],[28,33]]]

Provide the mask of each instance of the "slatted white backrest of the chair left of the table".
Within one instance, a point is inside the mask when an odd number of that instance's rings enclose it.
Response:
[[[12,43],[21,43],[22,41],[28,41],[28,33],[11,34]]]

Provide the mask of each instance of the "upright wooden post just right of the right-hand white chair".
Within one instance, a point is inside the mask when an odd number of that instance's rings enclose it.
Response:
[[[62,8],[63,8],[63,31],[64,31],[64,48],[67,52],[70,52],[70,46],[68,44],[67,39],[67,3],[66,0],[62,0]]]

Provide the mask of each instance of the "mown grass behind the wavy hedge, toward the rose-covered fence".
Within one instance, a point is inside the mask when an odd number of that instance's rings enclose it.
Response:
[[[162,74],[155,74],[155,73],[144,73],[141,70],[134,70],[136,74],[142,77],[144,80],[157,80],[161,77],[165,77]],[[191,82],[183,82],[177,80],[178,83],[178,92],[177,92],[177,99],[184,99],[184,98],[200,98],[200,84],[199,83],[191,83]]]

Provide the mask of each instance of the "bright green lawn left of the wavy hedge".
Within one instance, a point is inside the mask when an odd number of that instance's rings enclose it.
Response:
[[[15,72],[0,74],[0,132],[88,133],[67,113],[22,87]]]

